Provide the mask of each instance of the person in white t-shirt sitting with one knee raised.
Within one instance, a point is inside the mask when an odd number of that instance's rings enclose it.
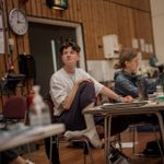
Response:
[[[93,107],[97,94],[106,95],[117,102],[132,102],[131,96],[122,97],[94,80],[87,72],[77,68],[80,59],[80,47],[73,42],[66,42],[60,47],[63,67],[50,79],[50,96],[55,104],[55,115],[66,125],[65,136],[86,136],[95,148],[99,148],[95,124],[103,118],[94,119],[93,115],[83,116],[82,110]],[[121,126],[121,124],[119,125]]]

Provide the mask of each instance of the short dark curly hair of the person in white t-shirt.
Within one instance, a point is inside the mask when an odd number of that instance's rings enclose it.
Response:
[[[79,46],[77,43],[71,42],[71,40],[68,40],[68,42],[65,42],[65,43],[61,45],[61,47],[60,47],[60,54],[62,55],[63,49],[66,49],[66,48],[68,48],[68,47],[72,47],[72,49],[73,49],[74,51],[77,51],[78,54],[79,54],[80,50],[81,50],[80,46]]]

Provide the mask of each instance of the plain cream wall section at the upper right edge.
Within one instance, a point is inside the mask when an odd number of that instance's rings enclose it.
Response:
[[[151,0],[155,55],[164,62],[164,0]]]

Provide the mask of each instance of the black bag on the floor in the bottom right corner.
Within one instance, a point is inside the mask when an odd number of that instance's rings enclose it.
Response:
[[[159,144],[160,144],[160,147],[159,147]],[[160,148],[161,148],[161,150],[160,150]],[[161,151],[164,154],[162,141],[154,140],[154,141],[150,141],[147,143],[143,154],[145,156],[162,156]]]

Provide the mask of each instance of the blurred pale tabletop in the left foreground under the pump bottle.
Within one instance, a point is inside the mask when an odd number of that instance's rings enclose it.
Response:
[[[17,132],[0,131],[0,151],[37,141],[62,132],[65,132],[63,124],[54,124],[39,127],[25,127],[24,129],[19,130]]]

